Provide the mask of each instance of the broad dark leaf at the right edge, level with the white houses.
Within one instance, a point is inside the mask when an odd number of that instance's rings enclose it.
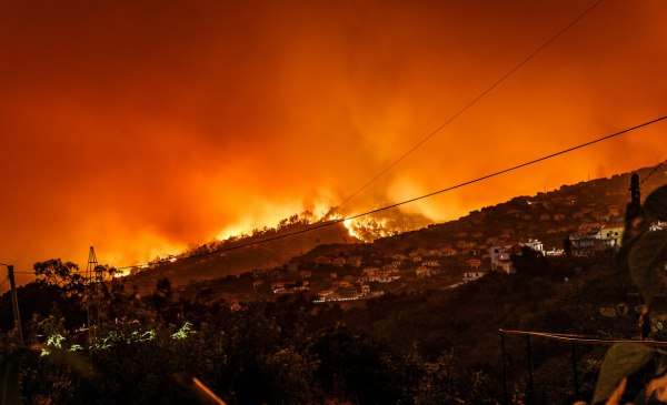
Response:
[[[633,246],[628,266],[633,282],[650,304],[665,288],[665,261],[667,260],[667,231],[646,232]]]

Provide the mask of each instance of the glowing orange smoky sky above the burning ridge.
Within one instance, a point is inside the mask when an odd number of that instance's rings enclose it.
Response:
[[[593,1],[4,1],[0,262],[128,265],[336,205]],[[667,2],[606,0],[349,205],[667,114]],[[667,124],[409,205],[653,165]]]

